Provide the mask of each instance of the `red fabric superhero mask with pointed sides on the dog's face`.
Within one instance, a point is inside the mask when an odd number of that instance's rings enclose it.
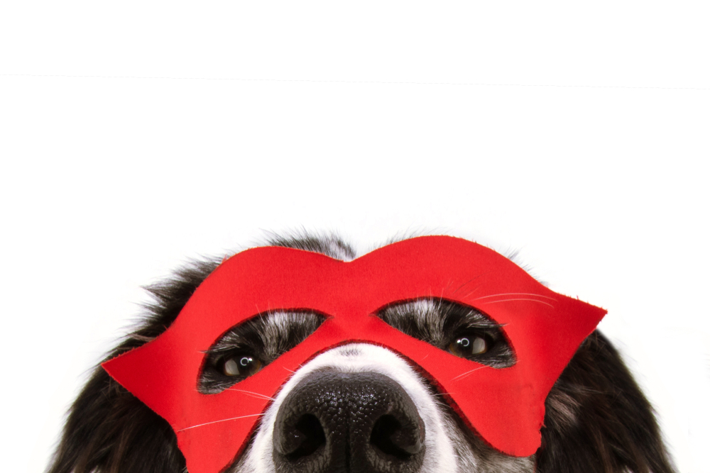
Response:
[[[515,365],[495,369],[456,357],[373,315],[396,302],[432,297],[471,306],[503,325]],[[295,309],[327,319],[235,389],[197,392],[204,352],[227,330],[265,311]],[[218,473],[231,464],[288,377],[320,352],[350,341],[403,355],[488,444],[521,457],[540,446],[547,393],[605,313],[550,291],[506,257],[459,238],[413,238],[351,262],[258,247],[210,274],[163,335],[103,367],[173,426],[190,473]]]

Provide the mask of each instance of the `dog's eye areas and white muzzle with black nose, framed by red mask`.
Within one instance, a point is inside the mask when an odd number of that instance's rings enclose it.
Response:
[[[470,308],[424,299],[390,306],[379,316],[408,335],[482,364],[515,362],[498,325]],[[209,351],[200,391],[230,389],[321,322],[317,314],[275,312],[229,330]],[[332,472],[347,457],[362,467],[351,471],[367,472],[526,472],[534,464],[532,457],[503,455],[472,435],[399,355],[349,343],[295,372],[231,471]]]

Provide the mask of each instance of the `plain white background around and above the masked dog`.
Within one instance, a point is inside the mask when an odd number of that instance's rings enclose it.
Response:
[[[0,6],[3,469],[41,472],[140,286],[262,230],[417,230],[601,324],[707,472],[710,10],[693,1]]]

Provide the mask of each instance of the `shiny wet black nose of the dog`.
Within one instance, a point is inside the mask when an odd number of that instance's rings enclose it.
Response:
[[[425,428],[414,402],[375,372],[313,372],[281,404],[273,430],[278,473],[416,473]]]

